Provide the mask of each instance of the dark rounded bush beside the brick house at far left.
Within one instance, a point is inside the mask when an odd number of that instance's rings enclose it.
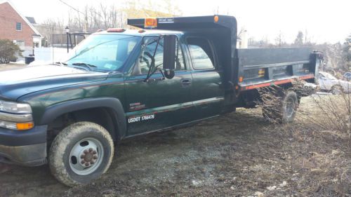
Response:
[[[8,64],[11,60],[17,60],[15,55],[22,56],[20,47],[8,39],[0,39],[0,64]]]

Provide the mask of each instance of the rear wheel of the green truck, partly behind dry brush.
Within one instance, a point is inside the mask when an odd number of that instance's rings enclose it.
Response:
[[[292,90],[282,95],[280,102],[270,107],[263,107],[263,117],[268,121],[279,123],[291,123],[296,116],[298,109],[298,96]]]

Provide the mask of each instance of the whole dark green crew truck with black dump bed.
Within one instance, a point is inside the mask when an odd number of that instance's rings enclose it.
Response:
[[[107,171],[120,140],[256,107],[258,88],[317,83],[321,53],[237,49],[232,16],[128,25],[138,29],[88,36],[65,62],[0,72],[1,162],[48,163],[63,184],[85,184]],[[293,121],[301,96],[282,95],[274,118]]]

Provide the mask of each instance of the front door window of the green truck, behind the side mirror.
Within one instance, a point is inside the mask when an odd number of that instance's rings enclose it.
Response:
[[[157,46],[157,41],[159,40],[159,44]],[[158,69],[163,68],[164,62],[164,39],[159,39],[157,36],[145,37],[144,42],[146,45],[144,46],[138,62],[135,64],[134,74],[147,74],[150,70],[152,60],[154,60],[154,67]],[[156,49],[157,47],[157,49]],[[156,49],[156,53],[155,53]],[[185,69],[185,60],[183,55],[183,50],[177,44],[178,50],[178,60],[176,61],[176,70],[184,70]],[[155,55],[154,55],[155,53]],[[154,55],[154,57],[153,57]]]

